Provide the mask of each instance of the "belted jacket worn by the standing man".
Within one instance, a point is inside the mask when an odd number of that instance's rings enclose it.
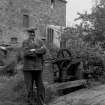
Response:
[[[35,49],[35,51],[30,51]],[[23,71],[42,70],[43,55],[46,53],[46,48],[40,39],[31,41],[29,39],[23,42],[24,65]]]

